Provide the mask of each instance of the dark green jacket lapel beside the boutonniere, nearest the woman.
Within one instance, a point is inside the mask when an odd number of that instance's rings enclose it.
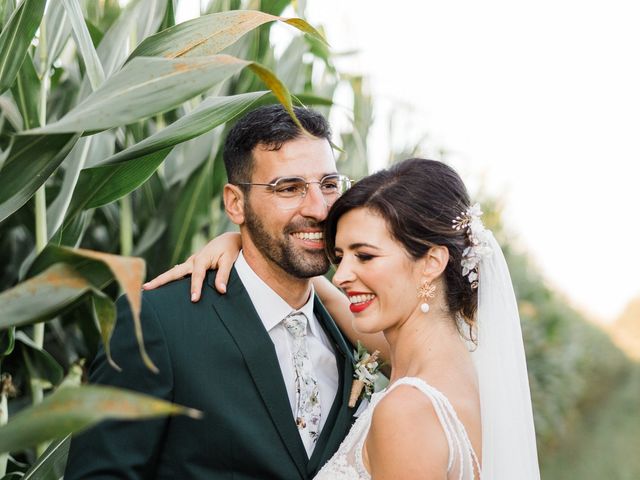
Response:
[[[353,354],[351,348],[318,297],[315,298],[314,313],[332,340],[334,349],[336,350],[339,388],[336,392],[336,398],[334,399],[329,416],[322,429],[322,433],[320,434],[320,438],[318,439],[318,443],[309,460],[307,472],[310,476],[313,476],[338,449],[351,426],[353,413],[355,411],[355,408],[349,408],[348,405],[353,380]]]

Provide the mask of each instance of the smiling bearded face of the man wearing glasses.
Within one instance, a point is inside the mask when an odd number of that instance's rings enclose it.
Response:
[[[331,146],[324,139],[301,137],[276,151],[258,145],[253,158],[252,183],[273,183],[283,177],[318,181],[336,173]],[[269,263],[294,277],[310,278],[329,269],[322,239],[328,211],[318,184],[310,184],[300,205],[292,209],[281,208],[269,187],[252,186],[246,195],[244,227],[253,247]]]

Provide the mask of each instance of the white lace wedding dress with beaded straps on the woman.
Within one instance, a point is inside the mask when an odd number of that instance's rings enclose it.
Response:
[[[387,390],[374,393],[371,396],[369,407],[356,420],[344,439],[340,448],[333,457],[318,472],[314,480],[370,480],[362,462],[362,448],[369,433],[371,418],[376,404],[391,390],[399,385],[411,385],[424,393],[431,402],[442,424],[442,429],[449,444],[449,464],[447,467],[447,479],[449,480],[477,480],[474,477],[480,472],[478,459],[467,432],[458,419],[453,406],[439,390],[436,390],[424,380],[417,377],[404,377],[393,383]]]

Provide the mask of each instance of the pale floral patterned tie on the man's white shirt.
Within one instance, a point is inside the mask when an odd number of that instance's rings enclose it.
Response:
[[[296,425],[307,453],[310,454],[318,440],[322,410],[320,409],[318,381],[311,373],[311,358],[307,349],[307,317],[302,312],[293,312],[282,323],[293,336],[293,366],[296,373]]]

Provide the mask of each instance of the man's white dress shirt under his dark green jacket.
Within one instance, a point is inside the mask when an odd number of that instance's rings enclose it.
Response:
[[[338,366],[331,342],[320,326],[318,319],[313,314],[314,290],[311,286],[311,294],[307,303],[302,308],[292,308],[271,287],[269,287],[249,266],[244,255],[240,252],[235,263],[236,272],[242,284],[251,298],[251,302],[258,312],[258,316],[267,330],[273,342],[278,363],[282,371],[282,378],[287,387],[289,404],[291,405],[291,417],[295,416],[296,409],[296,376],[293,366],[293,337],[287,332],[282,320],[292,312],[303,312],[308,319],[307,347],[311,357],[313,375],[318,381],[320,391],[320,407],[322,417],[320,429],[329,416],[333,400],[338,391]],[[295,419],[294,419],[295,421]],[[311,456],[311,450],[307,448],[307,454]]]

